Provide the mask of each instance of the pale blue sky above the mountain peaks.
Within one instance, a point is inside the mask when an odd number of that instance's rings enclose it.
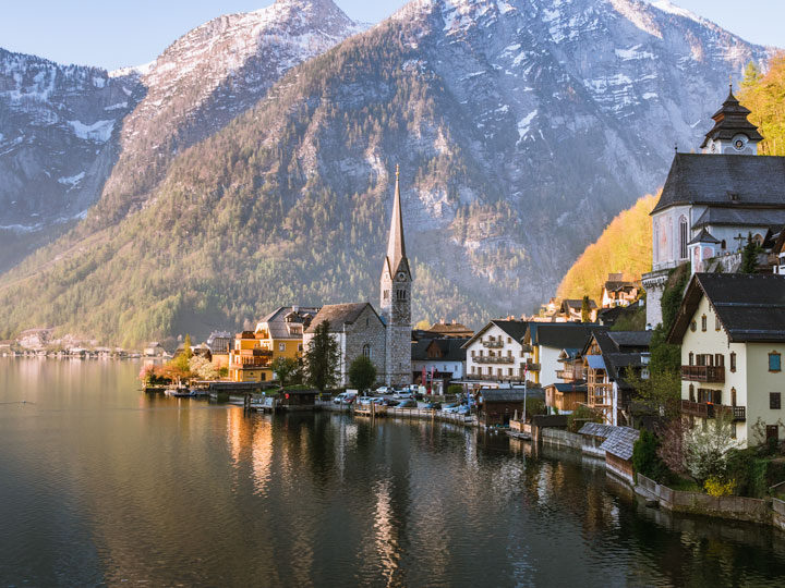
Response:
[[[378,22],[406,0],[335,0],[352,19]],[[109,70],[153,61],[202,23],[271,0],[0,0],[0,47]],[[742,38],[785,48],[785,0],[676,0]]]

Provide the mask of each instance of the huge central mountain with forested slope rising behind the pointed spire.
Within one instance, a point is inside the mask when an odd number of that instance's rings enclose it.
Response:
[[[376,301],[396,162],[414,317],[529,311],[769,57],[666,2],[416,0],[179,150],[136,212],[108,184],[3,278],[0,324],[128,344]]]

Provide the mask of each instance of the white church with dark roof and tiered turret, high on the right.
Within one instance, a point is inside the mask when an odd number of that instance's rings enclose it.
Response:
[[[702,154],[674,156],[652,216],[652,271],[643,275],[647,322],[662,322],[660,301],[672,268],[735,271],[748,234],[762,242],[785,224],[785,157],[757,157],[762,140],[750,113],[728,94]]]

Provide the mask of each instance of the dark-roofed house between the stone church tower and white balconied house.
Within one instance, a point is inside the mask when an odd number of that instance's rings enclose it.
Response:
[[[412,343],[412,381],[447,390],[449,382],[463,378],[468,339],[421,339]],[[436,385],[438,384],[438,385]]]

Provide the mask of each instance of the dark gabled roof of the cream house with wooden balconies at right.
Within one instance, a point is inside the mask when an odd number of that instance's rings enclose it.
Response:
[[[785,277],[696,273],[668,342],[680,344],[705,296],[733,343],[785,341]]]

